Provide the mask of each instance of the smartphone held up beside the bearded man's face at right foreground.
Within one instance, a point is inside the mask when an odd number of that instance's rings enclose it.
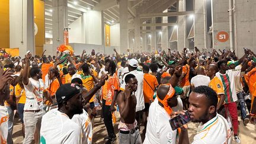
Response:
[[[169,123],[171,124],[172,130],[176,130],[179,127],[182,127],[184,124],[188,123],[189,121],[191,121],[190,115],[188,111],[185,111],[185,115],[178,114],[178,116],[169,120]]]

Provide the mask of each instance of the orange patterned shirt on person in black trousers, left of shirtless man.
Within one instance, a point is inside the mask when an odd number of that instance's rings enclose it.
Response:
[[[111,105],[114,98],[114,91],[119,91],[119,78],[116,73],[113,76],[109,76],[105,85],[103,85],[102,95],[103,99],[106,101],[105,105]]]

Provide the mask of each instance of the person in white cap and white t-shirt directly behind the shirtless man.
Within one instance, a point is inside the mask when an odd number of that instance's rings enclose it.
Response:
[[[137,104],[136,104],[136,120],[139,123],[139,117],[142,116],[143,109],[145,108],[144,105],[144,97],[143,97],[143,76],[144,73],[137,71],[137,67],[139,66],[139,62],[136,59],[130,59],[129,60],[129,72],[125,73],[123,76],[123,81],[121,82],[120,85],[120,90],[124,91],[126,87],[126,82],[124,79],[126,78],[126,75],[128,74],[133,74],[135,75],[137,79],[137,91],[135,92]],[[138,124],[139,125],[139,124]]]

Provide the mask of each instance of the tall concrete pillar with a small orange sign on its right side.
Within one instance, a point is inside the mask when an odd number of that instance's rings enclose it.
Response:
[[[68,1],[53,1],[52,18],[53,52],[56,52],[56,48],[64,44],[63,31],[68,27]]]

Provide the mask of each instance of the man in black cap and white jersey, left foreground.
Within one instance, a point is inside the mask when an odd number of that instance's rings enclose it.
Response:
[[[41,120],[40,143],[82,143],[81,127],[71,120],[82,111],[82,88],[64,84],[56,91],[58,108],[50,110]]]

